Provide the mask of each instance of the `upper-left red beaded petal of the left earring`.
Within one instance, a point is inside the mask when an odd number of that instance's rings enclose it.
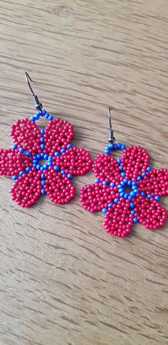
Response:
[[[26,151],[31,153],[41,151],[41,132],[31,120],[16,120],[16,124],[11,125],[11,137],[18,147],[23,147]]]

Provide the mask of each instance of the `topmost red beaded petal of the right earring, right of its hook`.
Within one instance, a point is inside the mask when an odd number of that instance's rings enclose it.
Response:
[[[140,146],[130,146],[125,149],[121,157],[121,165],[125,172],[125,179],[136,180],[149,165],[149,155]]]

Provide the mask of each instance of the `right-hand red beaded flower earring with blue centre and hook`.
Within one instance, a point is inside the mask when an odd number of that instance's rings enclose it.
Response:
[[[140,222],[147,229],[157,230],[164,225],[167,212],[158,201],[168,194],[168,170],[149,166],[149,155],[140,146],[115,144],[110,120],[109,144],[104,154],[98,154],[93,162],[97,179],[80,189],[80,202],[90,211],[105,213],[104,227],[107,233],[124,238],[133,223]],[[121,159],[110,152],[121,149]]]

